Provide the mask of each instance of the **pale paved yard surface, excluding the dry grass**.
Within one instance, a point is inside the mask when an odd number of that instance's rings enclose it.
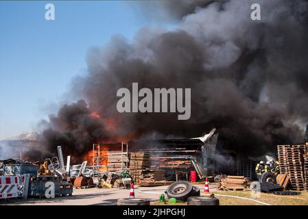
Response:
[[[203,189],[203,185],[198,185]],[[135,196],[137,198],[150,198],[152,201],[158,201],[159,194],[163,193],[167,185],[156,187],[136,187]],[[211,185],[211,191],[215,191],[215,185]],[[142,191],[142,192],[139,192]],[[156,193],[156,194],[152,194]],[[117,199],[128,198],[130,190],[111,189],[73,189],[73,196],[66,196],[52,199],[33,199],[27,201],[11,201],[3,205],[117,205]]]

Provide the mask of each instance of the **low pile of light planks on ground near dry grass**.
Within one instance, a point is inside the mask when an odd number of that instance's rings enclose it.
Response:
[[[226,179],[222,179],[218,185],[218,190],[246,190],[248,188],[248,181],[243,176],[228,176]]]

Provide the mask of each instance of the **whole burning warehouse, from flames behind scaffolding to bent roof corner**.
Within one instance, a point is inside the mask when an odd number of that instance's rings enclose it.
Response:
[[[134,153],[149,155],[146,162],[139,160],[142,168],[163,170],[169,180],[179,175],[189,175],[196,170],[200,179],[215,174],[216,129],[200,138],[163,140],[131,140],[128,143],[93,144],[86,159],[92,168],[120,172],[134,165]],[[145,165],[146,163],[146,165]]]

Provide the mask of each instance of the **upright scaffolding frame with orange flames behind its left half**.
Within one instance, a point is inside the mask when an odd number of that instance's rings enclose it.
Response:
[[[93,169],[106,169],[108,172],[121,172],[128,168],[128,143],[121,142],[121,150],[112,150],[107,144],[93,144]],[[119,147],[115,146],[116,149]]]

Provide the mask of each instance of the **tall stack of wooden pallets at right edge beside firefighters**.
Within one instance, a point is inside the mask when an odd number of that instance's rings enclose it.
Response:
[[[281,173],[287,174],[294,190],[305,190],[305,154],[307,145],[278,145]]]

